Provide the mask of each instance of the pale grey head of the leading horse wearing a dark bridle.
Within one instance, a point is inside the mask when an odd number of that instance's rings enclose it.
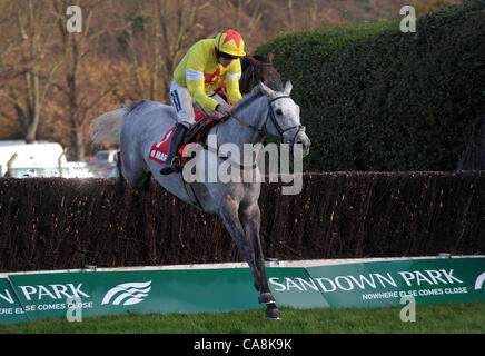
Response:
[[[293,85],[287,81],[283,91],[275,91],[260,82],[261,91],[268,98],[266,132],[283,144],[301,145],[304,156],[309,154],[311,141],[300,123],[299,106],[290,98]],[[291,147],[291,148],[293,148]]]

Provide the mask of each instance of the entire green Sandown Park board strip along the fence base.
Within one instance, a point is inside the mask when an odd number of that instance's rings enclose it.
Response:
[[[278,306],[375,308],[485,301],[485,258],[429,258],[319,267],[268,267]],[[127,313],[264,308],[249,268],[13,274],[0,278],[0,323],[82,320]]]

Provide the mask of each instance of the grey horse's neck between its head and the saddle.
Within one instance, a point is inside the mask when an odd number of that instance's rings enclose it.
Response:
[[[235,115],[240,119],[250,123],[253,127],[260,128],[265,120],[268,108],[266,98],[260,97],[251,103],[238,110],[236,107]],[[230,117],[222,125],[216,127],[218,146],[224,144],[232,144],[239,147],[242,152],[244,144],[256,144],[263,139],[263,135],[258,131],[244,126],[236,118]]]

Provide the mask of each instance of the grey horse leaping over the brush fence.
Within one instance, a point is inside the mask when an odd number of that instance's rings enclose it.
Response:
[[[289,97],[291,88],[289,81],[284,91],[274,91],[261,82],[256,86],[234,109],[234,117],[210,130],[210,134],[217,134],[217,146],[231,144],[242,152],[245,144],[256,145],[265,136],[271,136],[280,142],[303,149],[303,156],[307,155],[310,140],[300,125],[299,107]],[[160,137],[176,123],[176,112],[171,106],[140,100],[126,108],[106,112],[92,123],[95,144],[120,144],[119,181],[125,177],[132,186],[142,189],[147,187],[152,175],[172,195],[205,212],[217,214],[222,219],[242,258],[249,265],[255,287],[259,291],[259,304],[267,305],[266,317],[281,318],[268,286],[259,239],[258,198],[261,179],[250,182],[202,180],[188,184],[184,171],[160,175],[160,164],[149,159],[149,154],[154,142],[160,141]],[[208,172],[222,164],[227,165],[227,158],[218,152],[217,147],[204,147],[189,162],[195,160],[192,167],[196,169],[206,166]],[[216,167],[207,167],[210,161],[216,162]],[[238,168],[242,171],[254,169],[255,166],[240,165]],[[257,168],[254,170],[255,175],[260,175]]]

